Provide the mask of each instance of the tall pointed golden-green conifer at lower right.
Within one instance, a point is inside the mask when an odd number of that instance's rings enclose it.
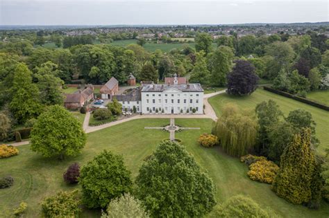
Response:
[[[302,129],[281,156],[273,191],[292,203],[307,203],[312,197],[315,157],[311,150],[311,130]]]

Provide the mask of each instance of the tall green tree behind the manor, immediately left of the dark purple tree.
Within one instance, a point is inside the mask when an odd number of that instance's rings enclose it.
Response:
[[[226,77],[232,69],[233,50],[228,46],[219,46],[210,57],[212,85],[223,87],[226,85]]]

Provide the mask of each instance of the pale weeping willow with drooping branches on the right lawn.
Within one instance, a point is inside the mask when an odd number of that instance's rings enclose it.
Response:
[[[241,113],[235,105],[226,105],[212,134],[219,138],[219,144],[227,154],[244,156],[255,149],[257,127],[250,113]]]

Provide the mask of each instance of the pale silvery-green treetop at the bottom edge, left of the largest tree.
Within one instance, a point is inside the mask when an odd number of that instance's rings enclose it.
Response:
[[[116,218],[116,217],[138,217],[147,218],[149,215],[145,211],[142,202],[135,199],[130,194],[124,194],[121,197],[114,199],[108,205],[108,214],[104,214],[101,218]]]

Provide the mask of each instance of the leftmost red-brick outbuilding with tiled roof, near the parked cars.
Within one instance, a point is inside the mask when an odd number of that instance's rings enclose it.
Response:
[[[78,109],[94,99],[94,87],[88,85],[86,89],[79,90],[73,94],[65,94],[65,96],[64,106],[67,109]]]

